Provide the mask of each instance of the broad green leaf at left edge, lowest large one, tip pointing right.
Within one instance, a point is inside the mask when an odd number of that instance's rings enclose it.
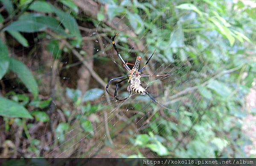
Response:
[[[0,97],[0,115],[3,117],[23,117],[33,119],[25,107],[4,97]]]

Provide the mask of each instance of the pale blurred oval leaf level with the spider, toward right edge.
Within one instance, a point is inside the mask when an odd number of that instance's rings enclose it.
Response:
[[[232,92],[229,87],[227,87],[224,83],[221,83],[217,80],[210,81],[207,87],[209,89],[212,89],[214,92],[221,95],[222,97],[228,97]]]

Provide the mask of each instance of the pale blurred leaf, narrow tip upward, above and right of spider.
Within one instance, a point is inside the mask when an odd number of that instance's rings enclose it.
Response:
[[[177,23],[177,28],[171,33],[169,46],[168,47],[183,47],[184,46],[184,33],[182,29],[182,24]]]

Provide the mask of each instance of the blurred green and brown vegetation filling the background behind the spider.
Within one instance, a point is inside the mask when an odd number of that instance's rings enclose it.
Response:
[[[256,157],[253,1],[0,2],[1,157]],[[105,94],[116,32],[131,63],[156,49],[145,72],[172,75],[150,89],[177,112]]]

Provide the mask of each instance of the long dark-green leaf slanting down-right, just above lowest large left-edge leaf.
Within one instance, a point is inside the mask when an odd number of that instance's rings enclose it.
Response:
[[[29,71],[26,65],[24,65],[24,63],[10,57],[10,70],[17,74],[29,92],[34,95],[34,97],[38,96],[38,85],[33,74]]]

